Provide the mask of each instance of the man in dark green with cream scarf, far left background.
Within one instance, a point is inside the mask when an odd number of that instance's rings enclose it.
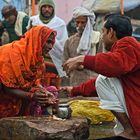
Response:
[[[18,40],[26,31],[29,17],[24,12],[18,12],[13,5],[2,8],[4,20],[0,25],[1,45]]]

